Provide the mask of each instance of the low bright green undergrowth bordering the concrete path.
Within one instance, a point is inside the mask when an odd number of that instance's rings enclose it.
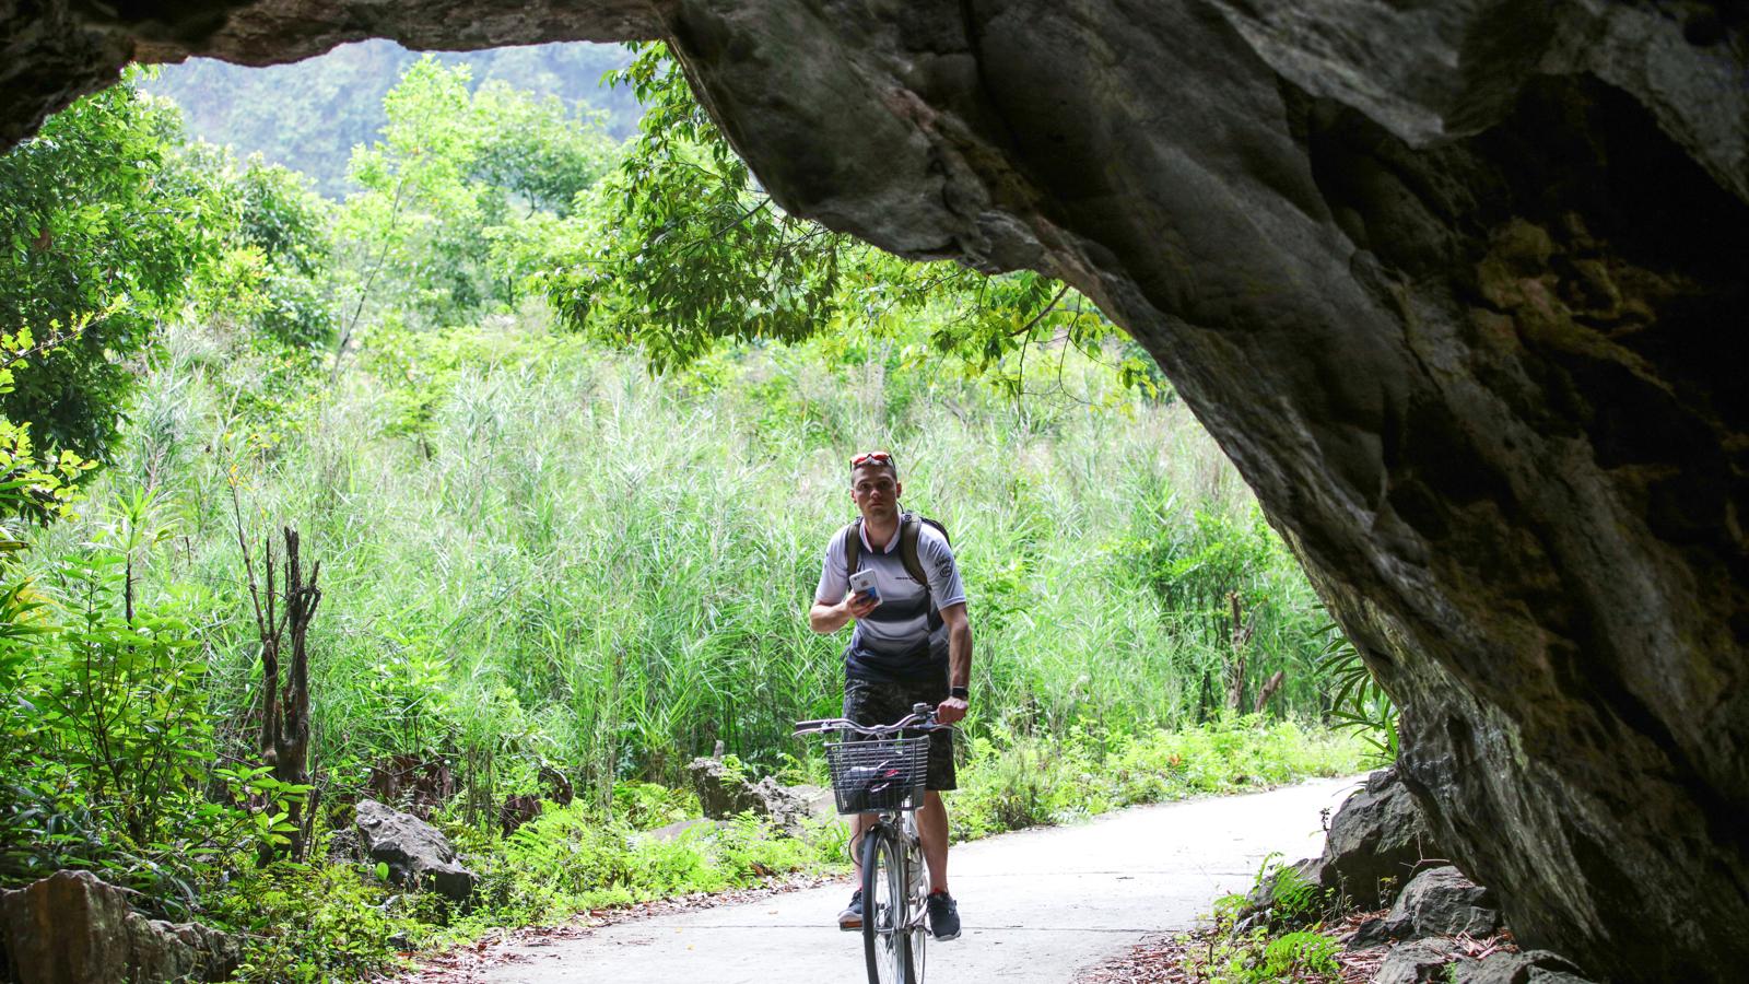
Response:
[[[960,788],[948,793],[948,811],[955,840],[972,840],[1126,805],[1347,774],[1361,767],[1362,749],[1352,735],[1254,716],[1142,734],[1095,734],[1079,725],[1051,739],[999,734],[974,741],[962,755]],[[784,779],[824,783],[826,776],[817,760],[799,760]],[[481,877],[465,909],[434,895],[394,895],[369,865],[332,861],[255,874],[217,910],[254,933],[243,979],[322,980],[387,970],[402,965],[409,951],[465,944],[500,926],[554,924],[637,902],[850,870],[841,819],[785,833],[745,814],[670,837],[649,833],[696,818],[691,793],[652,783],[621,783],[610,807],[547,804],[507,837],[448,816],[439,823]],[[1224,900],[1228,909],[1217,912],[1230,914],[1242,900]],[[1228,917],[1223,928],[1230,924]],[[1251,949],[1289,945],[1266,935],[1247,940],[1221,949],[1221,961],[1249,966],[1256,963]],[[1310,944],[1293,945],[1308,959]]]

